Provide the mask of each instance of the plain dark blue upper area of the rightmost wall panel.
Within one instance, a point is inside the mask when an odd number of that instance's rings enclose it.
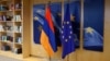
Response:
[[[84,23],[85,27],[92,27],[103,36],[105,0],[85,0]]]

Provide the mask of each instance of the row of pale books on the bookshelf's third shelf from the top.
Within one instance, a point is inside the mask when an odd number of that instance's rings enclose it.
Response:
[[[0,32],[14,32],[14,33],[22,33],[22,26],[3,26],[0,25]]]

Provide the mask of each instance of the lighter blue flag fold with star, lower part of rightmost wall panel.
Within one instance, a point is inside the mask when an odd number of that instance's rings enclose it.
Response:
[[[88,50],[102,51],[103,38],[91,27],[86,27],[84,30],[84,48]]]

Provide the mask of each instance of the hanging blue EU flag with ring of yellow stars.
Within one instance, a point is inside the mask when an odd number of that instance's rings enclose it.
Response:
[[[74,33],[70,23],[70,13],[68,3],[64,15],[64,21],[62,24],[61,40],[63,45],[62,58],[64,59],[67,54],[75,51]]]

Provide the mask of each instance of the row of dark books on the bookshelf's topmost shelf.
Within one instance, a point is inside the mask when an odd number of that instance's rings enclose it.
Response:
[[[13,9],[21,9],[22,4],[21,3],[11,3],[11,4],[0,4],[0,11],[12,11]]]

